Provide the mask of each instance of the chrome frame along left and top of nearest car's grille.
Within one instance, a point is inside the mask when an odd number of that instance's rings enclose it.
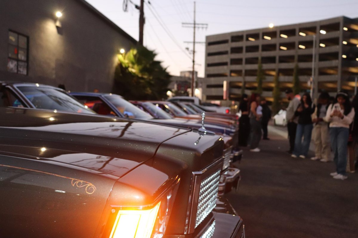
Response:
[[[187,220],[185,221],[184,234],[190,234],[194,232],[196,212],[198,208],[199,190],[201,176],[205,173],[214,172],[217,169],[222,169],[224,157],[221,156],[214,163],[204,168],[202,171],[195,171],[192,173],[192,182],[190,185],[190,196],[187,210]]]

